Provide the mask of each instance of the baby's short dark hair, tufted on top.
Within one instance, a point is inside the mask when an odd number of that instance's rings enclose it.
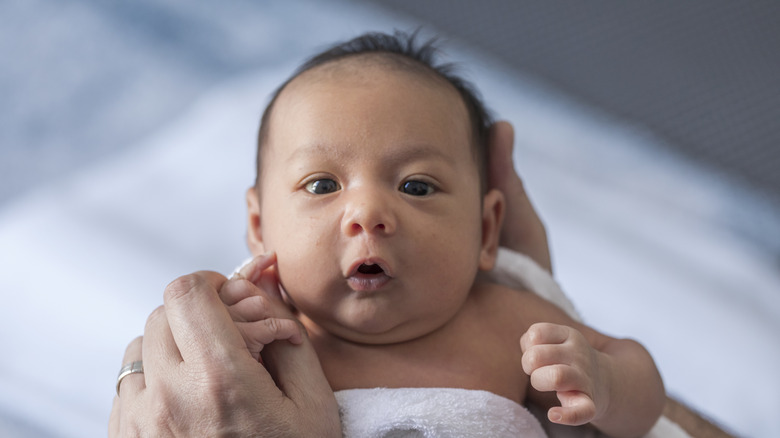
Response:
[[[396,30],[392,35],[381,32],[369,32],[349,41],[338,43],[324,52],[313,56],[298,67],[292,76],[274,91],[271,101],[263,112],[257,136],[257,179],[255,180],[255,187],[259,188],[260,186],[261,150],[263,143],[265,143],[268,137],[271,112],[282,90],[295,78],[316,67],[360,55],[379,55],[381,61],[387,62],[388,66],[443,80],[455,88],[468,111],[472,133],[471,143],[479,169],[482,193],[485,193],[487,191],[488,130],[492,123],[492,117],[482,103],[476,88],[454,73],[455,64],[437,63],[440,52],[440,49],[436,46],[437,39],[431,38],[424,43],[419,43],[417,37],[418,31],[408,34]]]

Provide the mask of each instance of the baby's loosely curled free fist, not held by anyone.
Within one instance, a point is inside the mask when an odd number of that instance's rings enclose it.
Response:
[[[520,338],[520,347],[531,386],[541,392],[555,391],[561,402],[547,412],[550,421],[578,426],[606,410],[601,353],[578,330],[537,323]]]

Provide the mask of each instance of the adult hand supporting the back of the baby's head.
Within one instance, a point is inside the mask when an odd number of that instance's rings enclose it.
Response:
[[[500,244],[527,255],[552,272],[547,232],[525,192],[523,180],[515,171],[512,158],[514,135],[509,122],[499,121],[490,127],[488,184],[490,188],[501,190],[506,198]]]

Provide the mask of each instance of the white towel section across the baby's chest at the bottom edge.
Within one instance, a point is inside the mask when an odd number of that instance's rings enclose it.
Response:
[[[344,437],[545,437],[525,407],[487,391],[374,388],[336,392]]]

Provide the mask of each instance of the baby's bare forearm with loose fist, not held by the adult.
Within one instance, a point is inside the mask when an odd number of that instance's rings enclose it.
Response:
[[[557,319],[557,318],[556,318]],[[610,436],[641,436],[661,415],[665,392],[658,369],[639,343],[615,339],[571,321],[537,323],[522,336],[523,370],[541,404],[555,392],[554,423],[592,423]],[[541,394],[540,394],[541,393]]]

